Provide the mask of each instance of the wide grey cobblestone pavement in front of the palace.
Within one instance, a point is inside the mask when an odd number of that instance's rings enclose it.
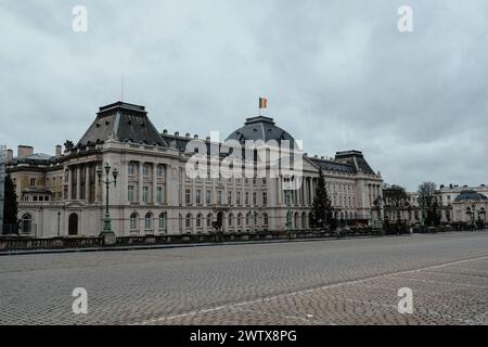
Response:
[[[487,301],[488,232],[0,257],[0,324],[488,324]]]

